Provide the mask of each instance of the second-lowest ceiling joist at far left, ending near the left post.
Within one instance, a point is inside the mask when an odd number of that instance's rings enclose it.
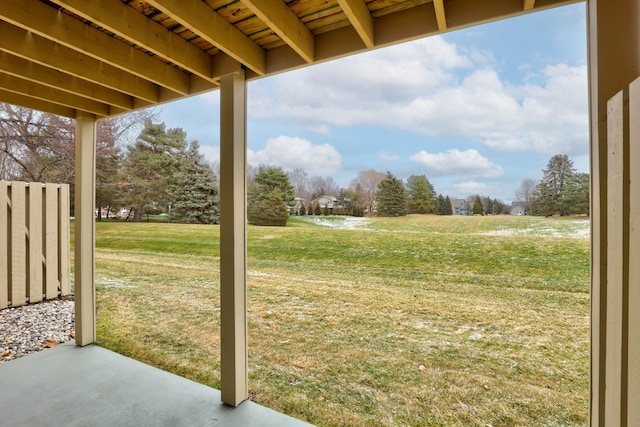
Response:
[[[40,99],[41,101],[55,99],[58,105],[86,111],[97,116],[107,117],[109,115],[109,106],[107,104],[72,95],[59,89],[30,82],[2,72],[0,72],[0,88],[30,98]]]

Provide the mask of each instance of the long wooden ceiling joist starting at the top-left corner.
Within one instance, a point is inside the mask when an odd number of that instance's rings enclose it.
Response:
[[[8,2],[0,8],[6,22],[43,38],[135,74],[182,95],[189,94],[189,75],[110,37],[39,0]]]

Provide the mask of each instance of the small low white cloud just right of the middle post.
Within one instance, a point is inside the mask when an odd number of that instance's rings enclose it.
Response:
[[[253,166],[280,166],[284,170],[302,168],[309,176],[325,176],[342,168],[342,156],[332,145],[314,145],[303,138],[281,135],[269,138],[263,150],[247,151]]]

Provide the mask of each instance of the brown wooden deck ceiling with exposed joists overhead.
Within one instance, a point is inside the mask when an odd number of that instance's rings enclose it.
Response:
[[[577,0],[2,0],[0,102],[120,114]]]

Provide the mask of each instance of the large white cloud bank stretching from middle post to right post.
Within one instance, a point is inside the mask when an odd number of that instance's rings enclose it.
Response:
[[[435,36],[255,82],[249,113],[332,127],[384,126],[502,151],[588,151],[586,65],[531,67],[509,83],[490,53]]]

